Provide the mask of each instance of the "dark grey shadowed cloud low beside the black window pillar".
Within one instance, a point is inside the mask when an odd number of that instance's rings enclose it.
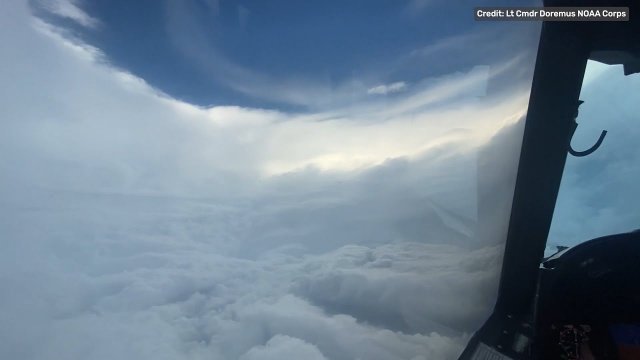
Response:
[[[465,252],[423,243],[343,247],[316,260],[318,271],[301,277],[294,291],[331,312],[386,329],[463,333],[479,327],[493,305],[498,269],[491,264],[502,250]]]

